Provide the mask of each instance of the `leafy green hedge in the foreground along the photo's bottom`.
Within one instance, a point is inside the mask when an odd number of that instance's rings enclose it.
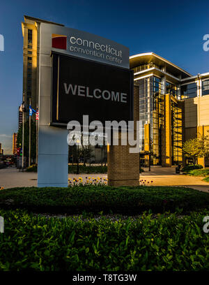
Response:
[[[0,210],[0,270],[209,270],[208,211],[178,218],[151,214],[117,222],[45,219]]]

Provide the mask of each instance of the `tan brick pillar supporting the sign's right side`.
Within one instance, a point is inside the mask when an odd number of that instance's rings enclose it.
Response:
[[[134,86],[134,123],[139,120],[139,87]],[[119,133],[119,144],[107,147],[107,177],[110,186],[139,186],[139,153],[131,154],[130,145],[121,145],[123,132]],[[136,139],[136,124],[134,124]]]

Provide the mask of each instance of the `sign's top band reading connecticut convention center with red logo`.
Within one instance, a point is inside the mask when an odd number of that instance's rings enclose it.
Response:
[[[129,48],[85,31],[41,23],[41,52],[61,52],[104,64],[130,68]]]

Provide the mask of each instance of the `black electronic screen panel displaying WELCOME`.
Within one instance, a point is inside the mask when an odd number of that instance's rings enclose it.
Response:
[[[127,69],[52,53],[52,125],[132,120],[133,75]]]

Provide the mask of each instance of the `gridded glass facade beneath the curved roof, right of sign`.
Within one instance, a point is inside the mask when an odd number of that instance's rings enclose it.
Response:
[[[145,148],[145,125],[150,124],[150,163],[152,165],[162,165],[163,152],[163,129],[164,129],[164,94],[169,93],[178,100],[178,86],[164,82],[162,78],[150,76],[135,81],[139,87],[139,121],[141,140],[141,165],[146,166],[146,148]],[[177,128],[180,126],[180,110],[177,103],[171,103],[171,149],[172,163],[178,163],[180,159],[180,144],[182,136],[179,135]]]

